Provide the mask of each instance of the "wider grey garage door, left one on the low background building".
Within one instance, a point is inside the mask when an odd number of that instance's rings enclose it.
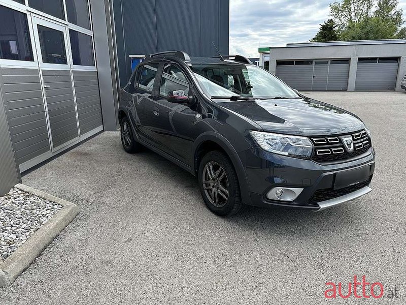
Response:
[[[298,90],[347,90],[349,59],[280,60],[276,76]]]

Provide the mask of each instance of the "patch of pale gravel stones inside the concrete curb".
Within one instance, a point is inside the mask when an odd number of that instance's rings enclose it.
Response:
[[[0,264],[61,208],[15,188],[0,197]]]

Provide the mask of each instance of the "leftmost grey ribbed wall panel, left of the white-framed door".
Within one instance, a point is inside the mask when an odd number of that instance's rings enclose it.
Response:
[[[50,150],[38,69],[0,69],[18,164]]]

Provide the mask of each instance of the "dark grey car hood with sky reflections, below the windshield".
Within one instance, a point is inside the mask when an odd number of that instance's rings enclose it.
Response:
[[[224,101],[221,106],[255,121],[264,131],[292,135],[332,135],[365,128],[356,115],[316,100]]]

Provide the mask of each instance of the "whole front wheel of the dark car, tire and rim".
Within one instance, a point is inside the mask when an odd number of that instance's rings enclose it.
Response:
[[[244,207],[237,173],[222,151],[210,151],[202,158],[198,180],[201,196],[214,214],[231,216]]]

